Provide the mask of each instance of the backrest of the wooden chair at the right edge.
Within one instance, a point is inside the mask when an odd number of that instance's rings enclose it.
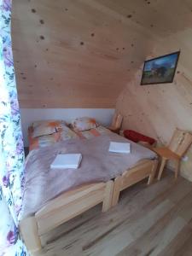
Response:
[[[179,156],[183,156],[192,143],[192,134],[189,131],[176,129],[168,148]]]

